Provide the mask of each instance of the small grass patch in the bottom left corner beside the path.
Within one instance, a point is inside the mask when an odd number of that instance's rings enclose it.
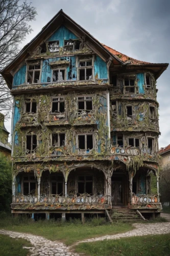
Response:
[[[0,234],[0,254],[1,256],[27,256],[28,249],[23,246],[32,247],[31,243],[25,239],[14,239],[4,234]]]

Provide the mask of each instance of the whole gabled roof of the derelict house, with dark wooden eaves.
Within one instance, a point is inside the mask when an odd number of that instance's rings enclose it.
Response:
[[[21,67],[25,60],[32,56],[32,53],[52,35],[61,25],[64,25],[77,37],[85,37],[86,45],[98,54],[104,61],[111,60],[113,65],[154,65],[153,63],[144,62],[128,57],[125,54],[117,52],[112,48],[101,44],[96,40],[89,32],[78,25],[73,19],[61,9],[51,20],[48,22],[42,30],[27,44],[23,49],[16,55],[16,57],[0,72],[5,78],[8,87],[12,88],[13,76],[18,69]],[[155,64],[158,78],[161,73],[167,68],[167,63]],[[155,67],[154,67],[155,68]]]

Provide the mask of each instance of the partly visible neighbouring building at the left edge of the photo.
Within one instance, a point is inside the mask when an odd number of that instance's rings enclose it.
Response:
[[[4,125],[4,115],[0,113],[0,155],[11,160],[11,146],[8,143],[9,132]]]

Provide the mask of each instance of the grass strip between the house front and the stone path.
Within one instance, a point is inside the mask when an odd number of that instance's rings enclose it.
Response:
[[[50,240],[61,240],[66,245],[73,244],[86,238],[100,237],[105,234],[122,233],[132,230],[128,223],[110,224],[104,218],[94,218],[82,224],[80,220],[61,222],[55,220],[33,221],[27,218],[12,218],[0,216],[0,228],[27,232],[45,237]]]

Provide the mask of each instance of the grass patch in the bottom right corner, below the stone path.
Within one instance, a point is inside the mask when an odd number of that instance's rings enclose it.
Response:
[[[80,243],[76,251],[90,256],[169,256],[170,234]]]

